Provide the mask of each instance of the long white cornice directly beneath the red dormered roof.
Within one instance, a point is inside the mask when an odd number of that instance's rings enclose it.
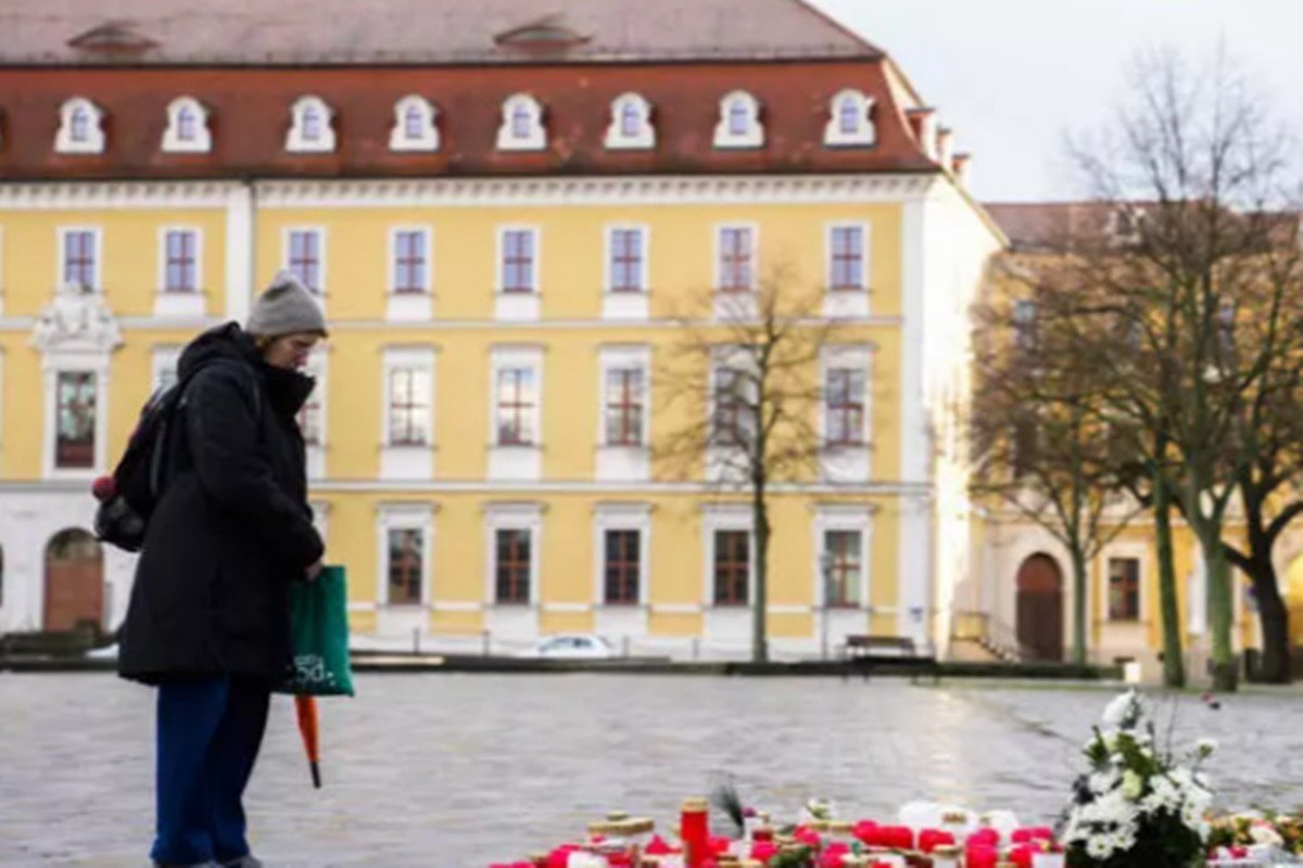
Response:
[[[222,208],[251,191],[258,208],[912,202],[938,174],[739,174],[262,181],[0,181],[0,210]]]

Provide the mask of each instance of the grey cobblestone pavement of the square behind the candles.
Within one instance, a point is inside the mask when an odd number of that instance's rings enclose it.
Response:
[[[627,675],[362,675],[322,700],[314,791],[278,698],[249,793],[271,868],[485,868],[560,842],[612,808],[674,816],[723,772],[748,800],[809,795],[889,816],[916,798],[1062,806],[1109,694],[896,681]],[[1224,803],[1303,802],[1303,695],[1174,707],[1178,740],[1221,743]],[[0,674],[0,865],[146,865],[152,694],[100,674]]]

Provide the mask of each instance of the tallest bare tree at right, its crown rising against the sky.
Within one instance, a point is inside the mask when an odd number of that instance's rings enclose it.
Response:
[[[1273,215],[1285,206],[1285,139],[1225,59],[1191,74],[1171,55],[1152,57],[1138,64],[1131,86],[1135,103],[1115,137],[1076,148],[1097,198],[1130,224],[1126,237],[1113,226],[1076,245],[1076,282],[1093,286],[1097,302],[1078,321],[1110,383],[1108,418],[1143,432],[1132,445],[1145,455],[1156,502],[1170,493],[1199,540],[1214,686],[1233,690],[1226,526],[1253,463],[1276,461],[1257,449],[1280,418],[1267,411],[1280,405],[1268,396],[1296,387],[1268,377],[1294,351],[1277,340],[1286,334],[1282,305],[1298,290],[1293,268],[1277,278],[1277,254],[1293,262],[1296,249],[1273,239],[1281,224]],[[1101,345],[1119,321],[1138,353]],[[1246,328],[1252,346],[1234,340]]]

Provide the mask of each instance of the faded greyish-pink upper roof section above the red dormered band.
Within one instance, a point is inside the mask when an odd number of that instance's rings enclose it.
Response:
[[[0,66],[880,56],[805,0],[0,0]]]

